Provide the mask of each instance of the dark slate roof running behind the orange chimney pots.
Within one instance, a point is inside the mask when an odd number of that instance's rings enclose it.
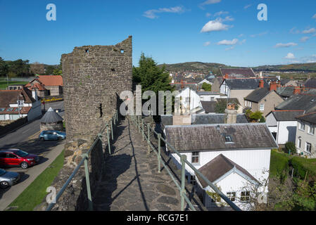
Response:
[[[259,81],[262,78],[237,78],[237,79],[225,79],[229,89],[232,90],[251,90],[259,87]],[[263,84],[265,88],[269,88],[269,82],[271,80],[277,80],[277,78],[263,78]]]

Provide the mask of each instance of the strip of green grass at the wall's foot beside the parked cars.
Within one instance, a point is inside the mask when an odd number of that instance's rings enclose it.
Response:
[[[47,195],[46,188],[51,185],[63,167],[64,152],[65,150],[8,206],[12,211],[32,211],[42,203]]]

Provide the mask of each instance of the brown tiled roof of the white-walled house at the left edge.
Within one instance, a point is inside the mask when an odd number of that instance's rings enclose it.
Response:
[[[1,90],[0,91],[0,107],[6,108],[10,104],[17,104],[17,101],[23,100],[24,103],[34,103],[35,99],[32,97],[32,91],[23,87],[20,90]]]

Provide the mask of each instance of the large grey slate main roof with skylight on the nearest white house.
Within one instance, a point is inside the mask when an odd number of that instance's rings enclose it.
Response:
[[[265,123],[166,126],[165,136],[178,151],[279,148]]]

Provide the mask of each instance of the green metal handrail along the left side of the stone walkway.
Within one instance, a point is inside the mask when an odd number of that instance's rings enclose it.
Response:
[[[56,195],[56,200],[54,201],[55,203],[49,203],[49,206],[46,208],[46,211],[51,211],[53,209],[53,206],[56,205],[58,199],[61,197],[61,195],[63,194],[63,192],[67,188],[68,184],[70,184],[70,181],[73,179],[75,174],[77,174],[78,170],[80,169],[80,167],[82,166],[83,163],[84,163],[84,173],[85,173],[85,177],[86,177],[87,195],[88,195],[88,200],[89,200],[89,208],[88,209],[90,211],[93,210],[93,203],[92,203],[92,198],[91,198],[90,179],[89,179],[89,167],[88,167],[89,153],[91,152],[92,149],[94,149],[94,147],[96,146],[96,143],[98,143],[98,141],[101,140],[103,132],[107,129],[108,152],[110,154],[110,134],[111,134],[112,140],[113,140],[113,123],[112,122],[114,122],[114,126],[116,126],[118,124],[118,110],[116,110],[115,114],[110,119],[110,124],[106,123],[106,124],[104,124],[104,127],[101,128],[99,134],[96,136],[96,139],[94,140],[94,143],[92,143],[92,145],[89,148],[89,150],[87,151],[87,153],[82,154],[82,160],[77,165],[77,167],[75,167],[74,171],[69,176],[67,181],[65,181],[65,184],[63,184],[63,187],[61,188],[61,190],[58,191],[58,193]],[[109,127],[110,127],[110,131],[109,131]]]

